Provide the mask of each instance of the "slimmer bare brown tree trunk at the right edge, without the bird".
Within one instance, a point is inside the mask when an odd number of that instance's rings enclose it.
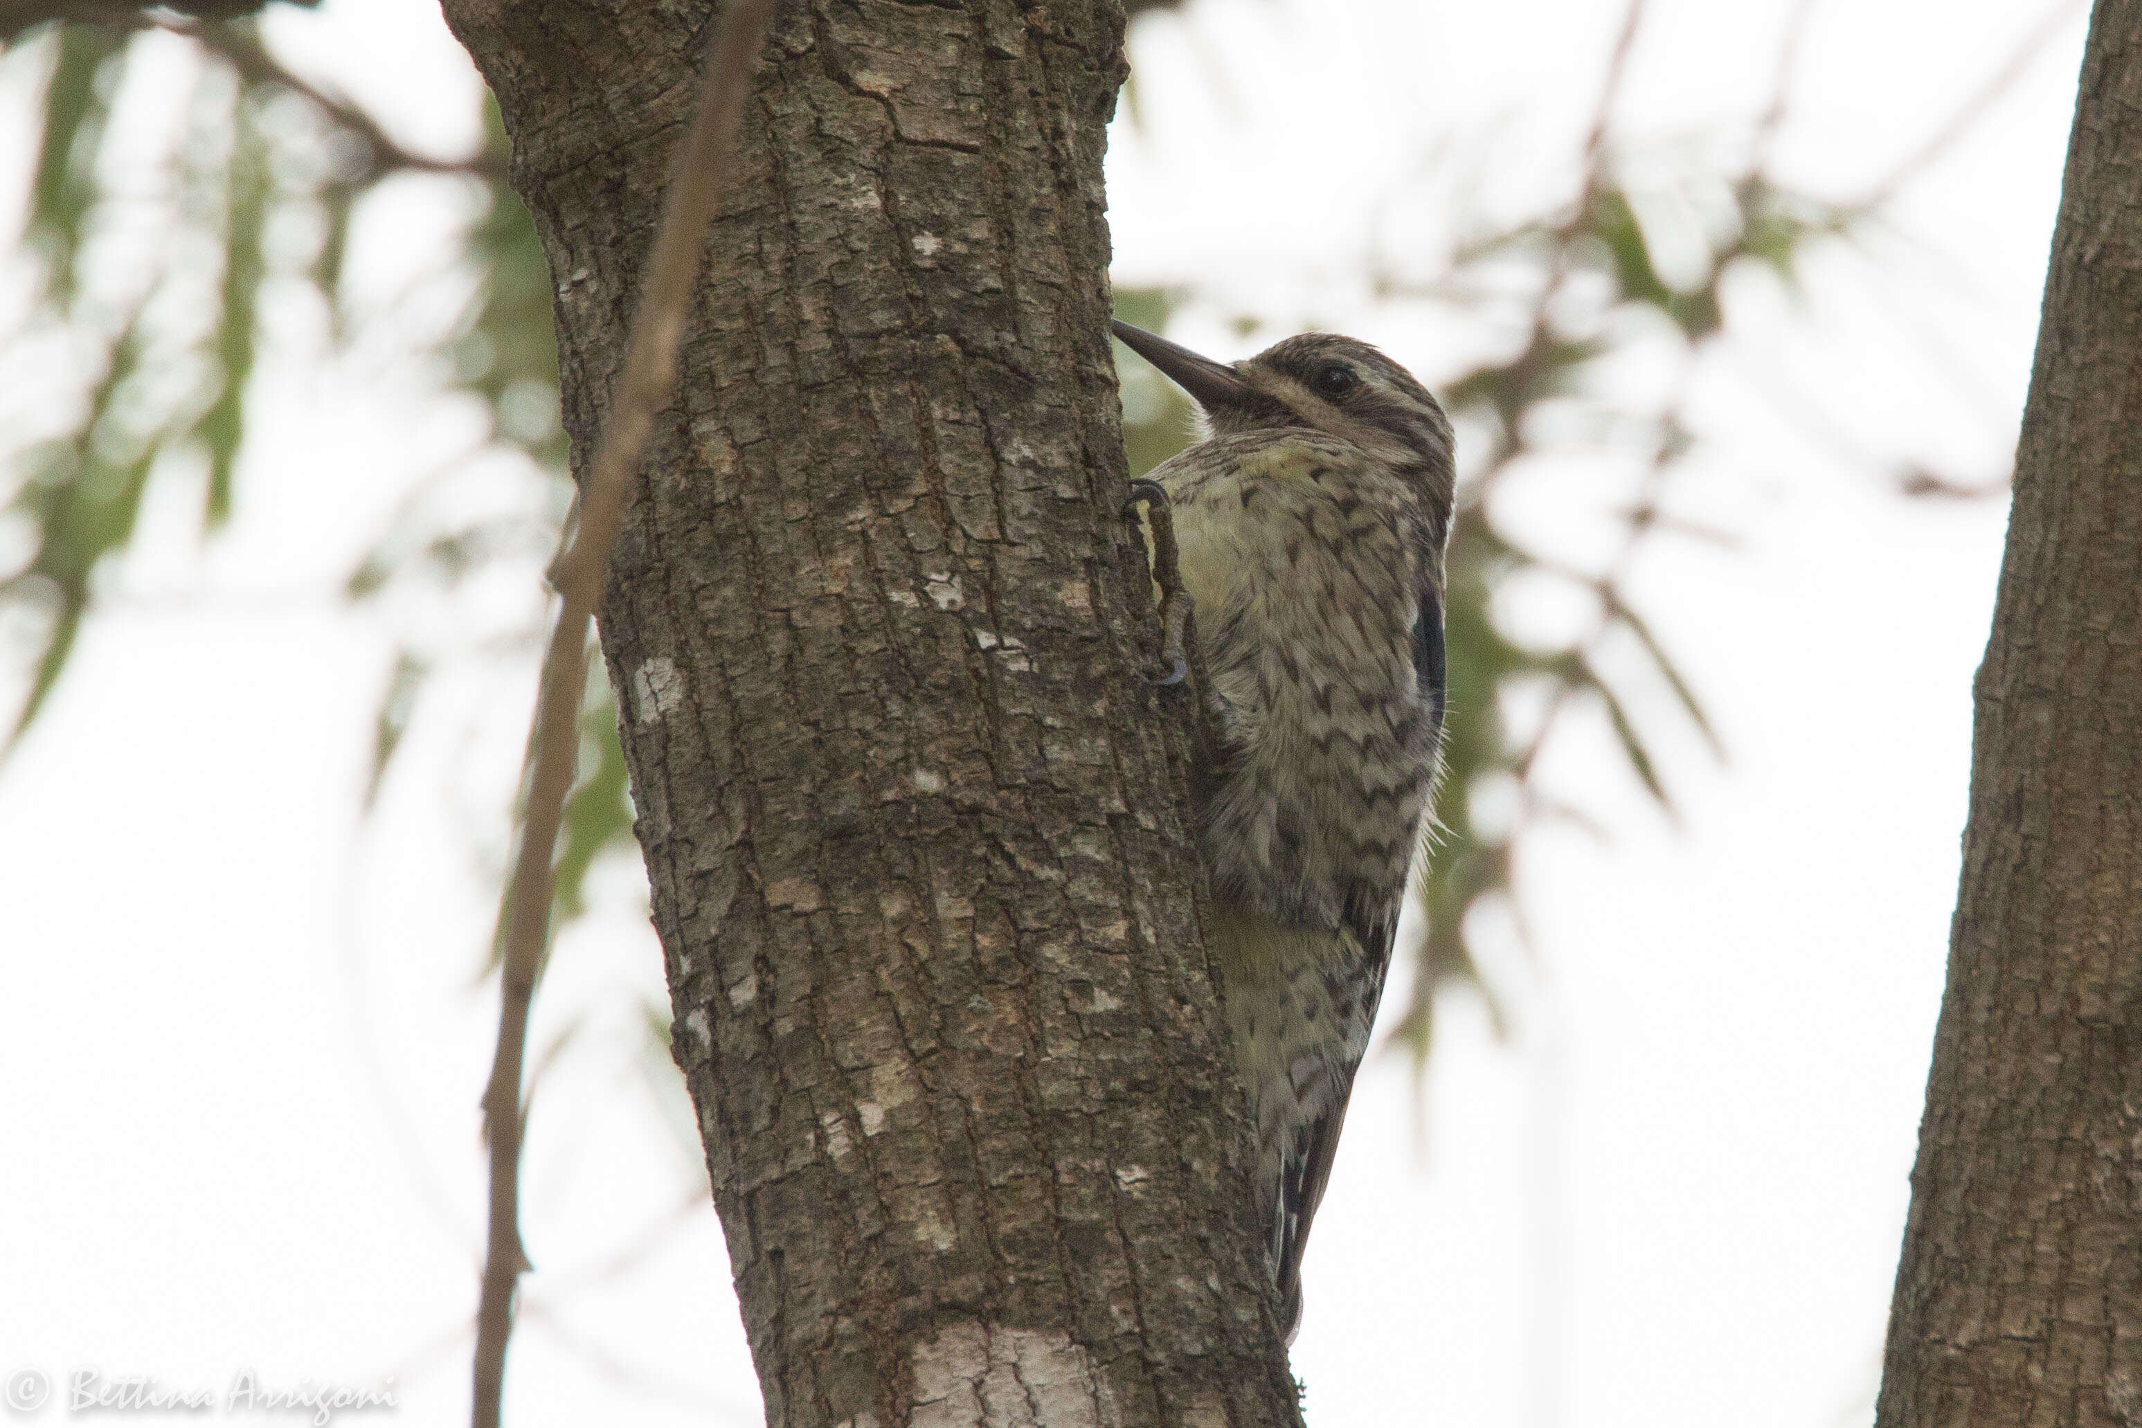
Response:
[[[2142,1424],[2136,195],[2142,0],[2099,0],[1977,681],[1881,1428]]]

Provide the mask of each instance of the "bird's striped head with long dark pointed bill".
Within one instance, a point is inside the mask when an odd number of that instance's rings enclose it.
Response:
[[[1131,323],[1116,323],[1116,336],[1197,400],[1212,435],[1287,426],[1328,432],[1424,482],[1448,510],[1457,480],[1450,417],[1412,373],[1369,343],[1304,332],[1230,366]]]

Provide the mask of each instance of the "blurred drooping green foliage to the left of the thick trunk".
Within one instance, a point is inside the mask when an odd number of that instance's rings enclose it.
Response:
[[[180,9],[208,15],[218,6]],[[148,43],[144,30],[176,32],[199,49],[180,105],[184,133],[146,161],[146,173],[139,154],[122,169],[107,141],[131,56]],[[326,315],[328,358],[398,340],[379,332],[390,325],[381,313],[347,295],[343,255],[364,201],[411,173],[461,186],[473,216],[448,265],[465,276],[456,289],[465,298],[441,330],[420,336],[407,366],[439,373],[439,398],[484,407],[484,445],[540,473],[540,495],[503,510],[471,499],[454,488],[471,480],[473,462],[454,462],[405,503],[345,593],[353,602],[407,593],[435,608],[501,559],[525,561],[533,580],[570,482],[548,270],[527,210],[506,186],[495,111],[484,152],[465,161],[409,154],[347,101],[285,71],[251,24],[126,15],[122,24],[47,26],[21,34],[9,66],[41,83],[43,135],[17,253],[30,302],[4,334],[6,351],[15,370],[36,364],[47,390],[58,381],[69,392],[9,411],[0,437],[9,518],[0,614],[21,634],[28,674],[9,711],[9,749],[43,711],[94,606],[96,572],[129,544],[152,486],[197,488],[203,537],[229,520],[248,385],[268,343],[259,295],[270,285],[285,300],[304,291]],[[426,634],[439,627],[418,623]],[[435,672],[469,657],[521,659],[538,638],[533,623],[501,638],[411,636],[375,711],[364,807],[375,805]],[[585,908],[595,859],[630,848],[623,751],[600,668],[559,850],[559,923]]]

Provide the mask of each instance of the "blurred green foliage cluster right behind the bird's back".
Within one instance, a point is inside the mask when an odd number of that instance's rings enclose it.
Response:
[[[1476,443],[1484,435],[1484,450],[1474,450],[1467,460],[1469,480],[1446,572],[1450,683],[1459,694],[1450,700],[1448,766],[1435,805],[1439,850],[1420,882],[1427,914],[1422,968],[1403,1023],[1416,1055],[1427,1055],[1435,991],[1444,981],[1467,978],[1489,989],[1469,951],[1467,918],[1499,903],[1529,942],[1512,884],[1523,835],[1549,820],[1600,831],[1596,816],[1562,801],[1540,777],[1540,756],[1570,711],[1600,715],[1636,784],[1666,816],[1675,814],[1660,749],[1681,730],[1658,715],[1639,717],[1621,685],[1628,674],[1617,679],[1602,659],[1609,647],[1639,651],[1671,692],[1686,726],[1716,758],[1724,758],[1688,672],[1654,632],[1628,582],[1641,546],[1660,533],[1724,542],[1671,518],[1664,505],[1669,480],[1677,471],[1694,471],[1707,454],[1707,443],[1686,422],[1681,392],[1703,351],[1726,332],[1724,285],[1746,268],[1793,285],[1812,244],[1846,238],[1866,216],[1778,186],[1763,169],[1767,139],[1765,126],[1748,143],[1737,171],[1660,171],[1656,163],[1626,161],[1600,128],[1587,154],[1583,188],[1566,212],[1472,238],[1427,283],[1382,274],[1386,300],[1457,300],[1474,306],[1489,325],[1523,332],[1517,351],[1442,383],[1452,417]],[[1645,182],[1634,182],[1634,173],[1643,173]],[[1664,231],[1669,227],[1677,231]],[[1662,240],[1684,255],[1701,255],[1679,283],[1662,276]],[[1499,280],[1512,263],[1532,280]],[[1639,345],[1651,353],[1664,347],[1681,375],[1664,400],[1617,398],[1589,381]],[[1538,420],[1551,407],[1559,409],[1562,422]],[[1555,439],[1547,435],[1553,426],[1611,432],[1613,447],[1634,454],[1641,467],[1636,497],[1617,514],[1621,531],[1615,548],[1594,569],[1534,552],[1521,531],[1495,518],[1497,488],[1521,462],[1553,450]],[[1495,593],[1527,576],[1549,576],[1585,591],[1596,610],[1589,629],[1549,649],[1512,638],[1495,619]],[[1514,689],[1540,709],[1529,728],[1510,717],[1506,692]],[[1514,811],[1482,820],[1480,809],[1497,803],[1514,803]],[[1495,1006],[1493,996],[1489,1004]]]

